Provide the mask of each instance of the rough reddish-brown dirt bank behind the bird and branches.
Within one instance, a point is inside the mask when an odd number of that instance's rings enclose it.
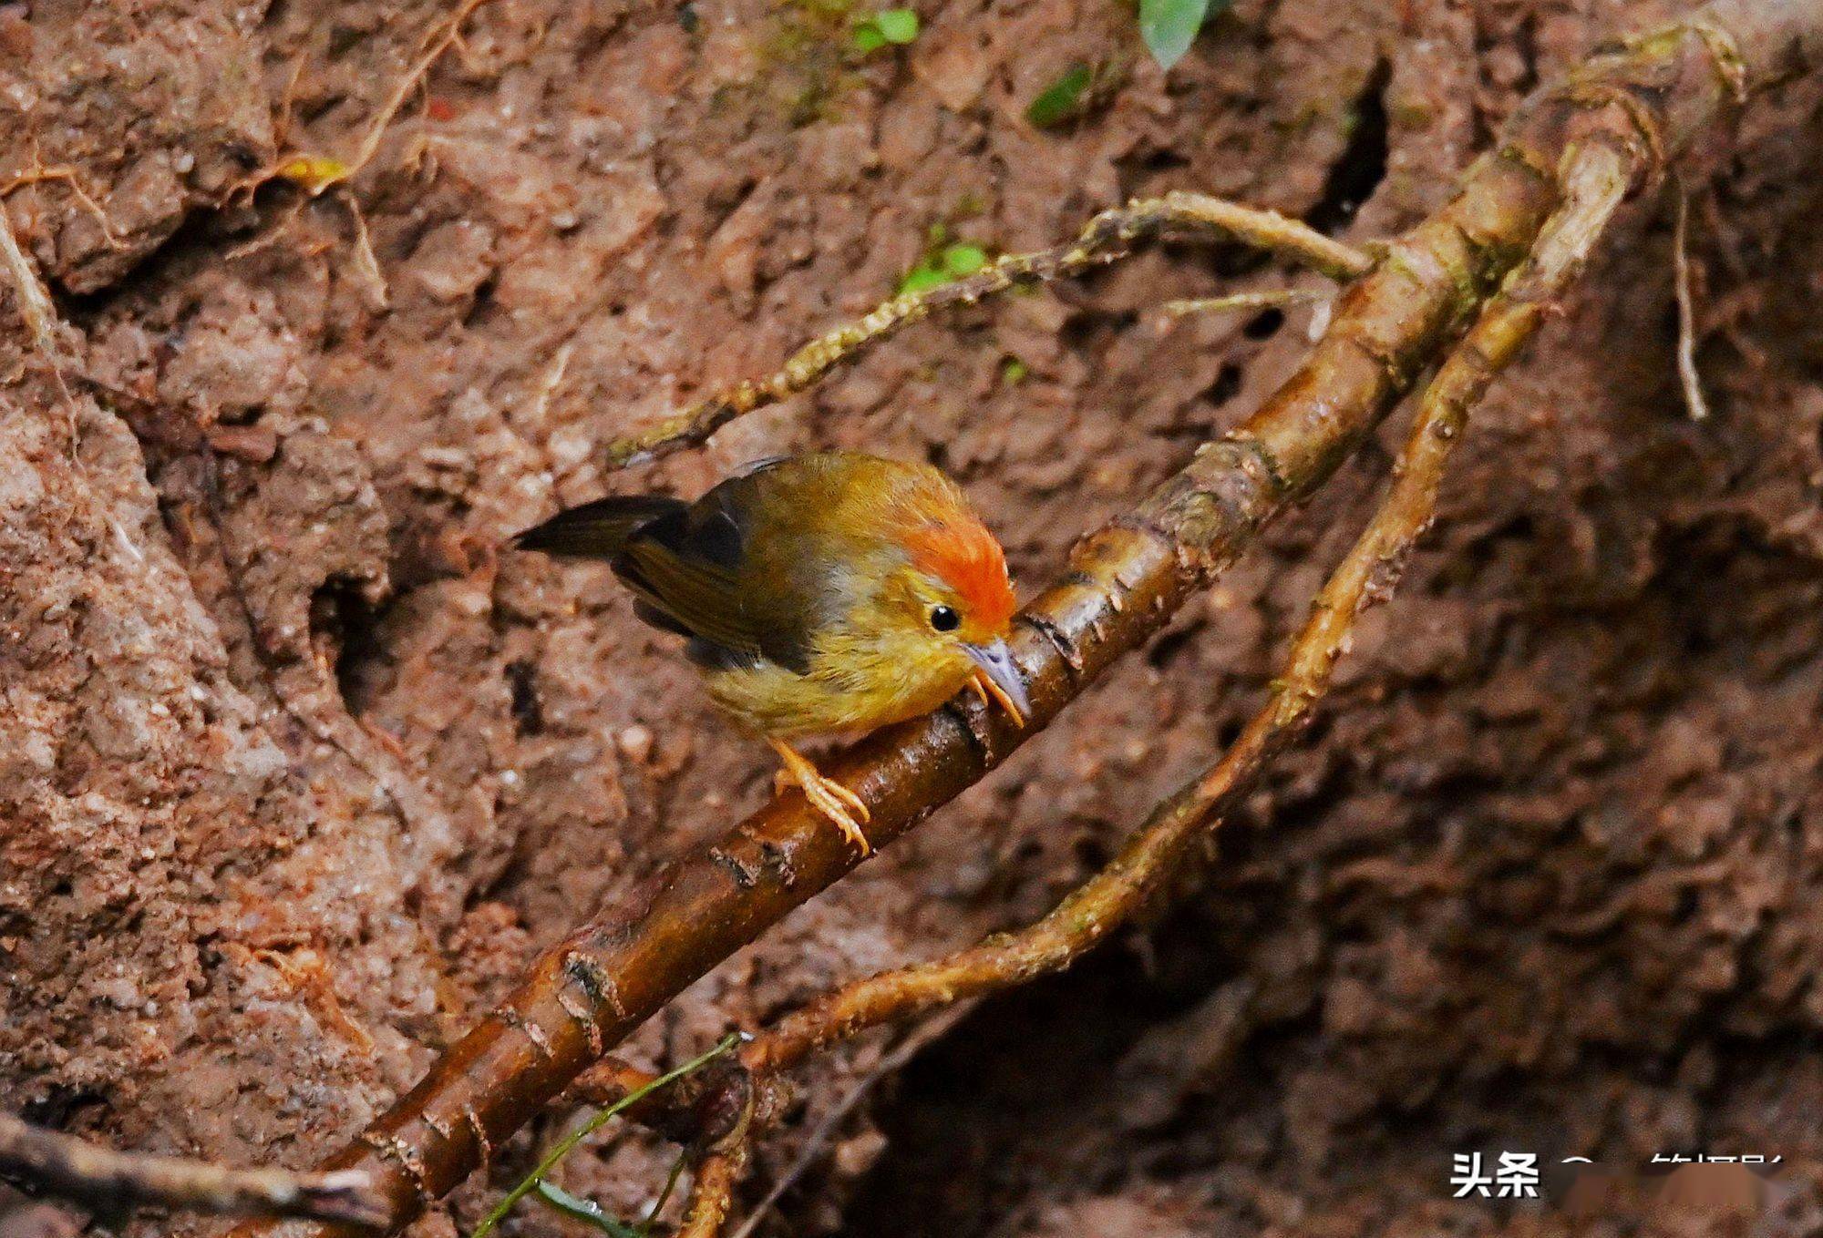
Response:
[[[769,754],[609,573],[507,533],[837,444],[955,473],[1032,590],[1262,399],[1309,315],[1161,330],[1169,297],[1278,279],[1170,248],[919,326],[664,466],[609,479],[603,441],[864,311],[935,228],[1037,248],[1169,188],[1402,228],[1540,75],[1677,9],[1240,0],[1165,76],[1088,0],[926,5],[864,58],[840,0],[496,0],[394,113],[445,5],[0,4],[7,213],[57,351],[117,391],[60,384],[7,289],[0,1105],[308,1163],[766,794]],[[1035,131],[1074,62],[1087,115]],[[1453,1152],[1502,1149],[1779,1154],[1772,1233],[1823,1225],[1818,104],[1759,100],[1690,177],[1714,421],[1677,397],[1648,195],[1207,881],[881,1081],[778,1233],[1560,1231],[1447,1198]],[[248,188],[370,133],[348,186]],[[638,1056],[1045,910],[1232,737],[1385,461]],[[749,1198],[882,1049],[802,1076]],[[530,1151],[421,1233],[467,1231]],[[667,1163],[633,1134],[563,1182],[631,1214]],[[1710,1233],[1655,1192],[1602,1227]]]

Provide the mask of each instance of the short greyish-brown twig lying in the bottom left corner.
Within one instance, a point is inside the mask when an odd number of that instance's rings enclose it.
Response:
[[[301,1216],[379,1227],[386,1200],[357,1169],[294,1174],[283,1169],[226,1169],[177,1156],[97,1147],[0,1114],[0,1172],[91,1211],[155,1203],[233,1216]]]

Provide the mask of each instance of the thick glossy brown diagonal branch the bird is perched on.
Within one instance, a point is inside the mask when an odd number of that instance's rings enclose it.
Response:
[[[999,765],[1334,472],[1531,253],[1560,202],[1568,149],[1621,153],[1637,188],[1725,106],[1803,71],[1819,46],[1816,0],[1717,0],[1531,96],[1455,198],[1347,289],[1311,357],[1260,411],[1085,539],[1061,584],[1026,608],[1014,652],[1035,725],[1014,730],[959,701],[826,766],[866,799],[875,847]],[[855,863],[842,834],[797,792],[767,803],[662,870],[634,907],[545,954],[330,1167],[372,1172],[392,1223],[403,1225],[678,990]]]

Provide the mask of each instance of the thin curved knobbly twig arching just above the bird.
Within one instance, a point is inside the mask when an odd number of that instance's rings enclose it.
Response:
[[[1167,228],[1214,240],[1236,240],[1302,262],[1338,280],[1356,279],[1373,268],[1373,259],[1354,246],[1333,240],[1278,211],[1260,211],[1181,191],[1161,198],[1134,198],[1123,208],[1096,215],[1068,244],[1037,253],[1008,253],[973,275],[893,297],[864,319],[819,335],[793,353],[777,373],[736,382],[636,435],[609,442],[607,464],[620,468],[702,442],[736,417],[809,390],[835,366],[853,360],[933,310],[973,306],[1010,288],[1083,275],[1127,257],[1136,244],[1158,237]]]

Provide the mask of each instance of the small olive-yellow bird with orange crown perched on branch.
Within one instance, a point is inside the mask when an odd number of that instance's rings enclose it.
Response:
[[[749,464],[695,502],[607,497],[514,539],[605,559],[634,614],[685,655],[736,725],[784,761],[780,783],[860,848],[866,803],[791,746],[926,714],[964,686],[1023,725],[1006,650],[1006,557],[935,468],[857,452]]]

